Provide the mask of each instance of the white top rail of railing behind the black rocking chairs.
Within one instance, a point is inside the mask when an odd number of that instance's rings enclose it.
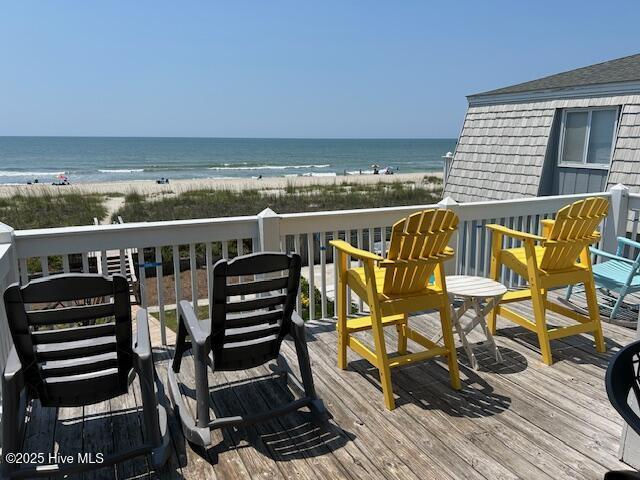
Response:
[[[254,238],[255,216],[16,230],[19,258]]]

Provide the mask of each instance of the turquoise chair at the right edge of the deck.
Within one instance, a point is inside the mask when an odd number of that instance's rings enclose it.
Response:
[[[625,246],[636,249],[638,253],[635,260],[622,256]],[[593,278],[597,288],[606,288],[618,294],[618,300],[611,311],[611,318],[614,318],[624,297],[628,293],[640,291],[640,243],[618,237],[618,248],[615,254],[593,247],[589,250],[598,257],[608,259],[593,265]],[[567,289],[567,300],[571,297],[572,290],[572,286]]]

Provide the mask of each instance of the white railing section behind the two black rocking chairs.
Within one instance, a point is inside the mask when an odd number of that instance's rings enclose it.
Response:
[[[201,302],[199,290],[210,291],[211,267],[219,257],[250,253],[256,245],[258,226],[255,216],[171,222],[142,222],[86,227],[48,228],[15,232],[20,279],[26,283],[36,275],[47,276],[55,264],[61,272],[98,271],[89,262],[89,252],[100,252],[106,261],[107,250],[119,251],[120,272],[126,275],[127,252],[137,249],[136,264],[139,299],[143,307],[157,307],[162,343],[166,344],[165,269],[173,270],[174,301]],[[214,258],[215,255],[215,258]],[[184,279],[179,273],[187,270]],[[106,271],[106,265],[102,266]],[[176,274],[178,272],[178,274]],[[200,273],[200,274],[199,274]],[[155,294],[149,290],[155,277]],[[184,285],[183,285],[184,283]],[[206,296],[206,295],[205,295]],[[174,307],[175,308],[175,307]]]

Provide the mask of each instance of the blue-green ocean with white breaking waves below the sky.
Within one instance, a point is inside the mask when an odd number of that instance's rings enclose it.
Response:
[[[456,139],[0,137],[0,184],[442,171]]]

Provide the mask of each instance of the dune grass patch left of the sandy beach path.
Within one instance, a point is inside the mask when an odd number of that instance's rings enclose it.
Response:
[[[0,198],[0,222],[17,230],[91,225],[104,218],[103,196],[65,192],[38,192]]]

